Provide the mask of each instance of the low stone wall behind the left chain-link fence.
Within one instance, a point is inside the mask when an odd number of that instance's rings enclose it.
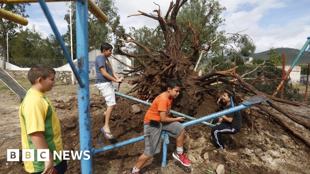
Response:
[[[13,78],[27,78],[28,71],[7,70],[7,73],[9,73]],[[58,81],[57,83],[72,83],[71,71],[56,71],[55,76],[55,80]]]

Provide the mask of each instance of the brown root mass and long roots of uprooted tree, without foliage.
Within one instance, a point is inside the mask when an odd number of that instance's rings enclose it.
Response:
[[[187,115],[198,115],[197,113],[202,110],[202,114],[200,115],[207,115],[213,112],[218,111],[218,106],[216,104],[215,98],[211,97],[210,93],[212,90],[209,90],[210,85],[213,82],[217,82],[222,80],[224,83],[231,84],[231,85],[239,85],[242,89],[245,89],[248,92],[257,95],[267,96],[269,99],[268,103],[271,107],[277,109],[282,114],[289,117],[294,122],[303,125],[305,128],[310,129],[310,124],[305,120],[298,118],[291,114],[290,112],[286,111],[279,107],[275,101],[278,102],[290,102],[286,100],[281,100],[278,98],[271,97],[269,95],[263,94],[262,92],[256,90],[253,86],[247,84],[241,76],[236,73],[226,71],[226,72],[212,72],[210,74],[206,74],[203,76],[197,76],[197,73],[194,71],[195,63],[198,59],[198,53],[201,50],[208,51],[212,46],[213,41],[207,43],[207,47],[203,47],[199,45],[199,37],[201,34],[201,30],[206,24],[206,20],[209,15],[214,11],[217,2],[210,8],[210,11],[203,19],[203,23],[199,30],[193,28],[191,23],[188,22],[187,29],[185,33],[182,33],[179,24],[176,23],[176,15],[180,7],[186,2],[187,0],[176,0],[175,4],[173,2],[170,3],[170,7],[165,15],[165,17],[161,16],[161,9],[154,10],[155,14],[148,14],[142,11],[139,11],[139,14],[136,15],[144,15],[146,17],[152,18],[159,22],[160,28],[162,29],[162,33],[165,39],[165,50],[161,50],[155,47],[153,50],[156,50],[156,53],[151,52],[146,46],[136,41],[133,37],[128,34],[122,33],[121,31],[117,30],[120,34],[126,35],[130,39],[122,40],[125,43],[134,43],[140,48],[145,51],[145,54],[130,54],[125,53],[121,50],[120,44],[117,46],[117,50],[119,54],[126,55],[128,57],[135,58],[139,61],[140,65],[136,67],[131,67],[126,65],[125,63],[121,62],[125,66],[131,68],[131,70],[125,70],[126,73],[122,73],[124,75],[128,75],[133,72],[141,71],[142,77],[137,78],[135,80],[129,81],[131,85],[135,85],[129,93],[136,92],[136,97],[143,100],[153,100],[158,94],[166,91],[166,84],[169,79],[178,79],[183,84],[181,88],[181,94],[179,95],[179,100],[175,102],[176,106],[174,108],[177,111],[183,112]],[[171,12],[171,14],[170,14]],[[170,14],[170,19],[168,16]],[[135,16],[135,15],[131,15]],[[190,48],[193,49],[193,54],[185,54],[181,51],[181,46],[183,45],[184,41],[188,37],[189,32],[192,32],[192,45]],[[236,33],[237,35],[237,33]],[[223,35],[224,36],[224,35]],[[218,38],[217,38],[218,39]],[[144,62],[141,58],[149,58],[147,62]],[[237,67],[236,67],[237,68]],[[215,78],[212,78],[216,76]],[[239,82],[232,82],[221,77],[235,77]],[[217,91],[214,91],[217,92]],[[128,93],[128,94],[129,94]],[[296,102],[291,102],[290,104],[298,105]],[[273,114],[269,112],[269,114]],[[287,127],[287,124],[281,120],[280,117],[274,116],[274,118],[278,119],[281,124]],[[303,138],[297,131],[294,129],[290,129],[291,132],[294,133],[295,136],[299,137],[303,140],[308,146],[309,142]]]

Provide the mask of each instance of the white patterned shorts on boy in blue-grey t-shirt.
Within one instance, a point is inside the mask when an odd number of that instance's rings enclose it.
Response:
[[[113,82],[102,82],[95,84],[95,87],[97,87],[101,93],[102,96],[105,99],[105,102],[107,103],[107,106],[113,106],[116,105],[115,98],[118,98],[119,96],[115,96],[116,86],[113,85]]]

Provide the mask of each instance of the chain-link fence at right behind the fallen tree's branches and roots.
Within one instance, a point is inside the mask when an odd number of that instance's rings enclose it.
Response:
[[[204,73],[210,73],[214,71],[226,71],[234,68],[234,64],[230,61],[222,62],[218,65],[212,65],[211,63],[200,65],[199,69],[203,70]],[[258,81],[253,84],[253,87],[260,92],[268,95],[272,95],[281,83],[282,79],[282,68],[275,67],[272,64],[264,63],[261,65],[244,64],[237,66],[235,70],[247,83],[251,84],[258,76]],[[286,73],[286,72],[285,72]],[[225,77],[227,80],[233,80],[232,77]],[[290,78],[290,77],[289,77]],[[226,84],[216,84],[216,88],[226,88]],[[229,86],[235,89],[238,94],[243,94],[245,91],[238,86]],[[293,101],[304,101],[305,99],[306,85],[300,83],[298,80],[286,80],[283,88],[283,99]],[[276,95],[277,98],[281,98],[281,90]]]

